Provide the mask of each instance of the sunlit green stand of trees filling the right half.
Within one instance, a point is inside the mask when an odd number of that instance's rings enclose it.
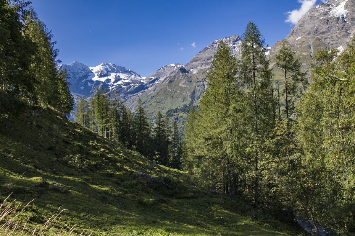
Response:
[[[250,22],[240,60],[219,43],[208,89],[186,122],[183,165],[204,188],[248,199],[275,218],[304,220],[312,234],[319,225],[354,232],[355,40],[342,53],[317,52],[308,88],[283,42],[277,89],[264,42]]]

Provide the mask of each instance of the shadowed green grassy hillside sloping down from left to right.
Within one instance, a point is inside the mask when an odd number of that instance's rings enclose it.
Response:
[[[35,198],[23,215],[29,227],[63,206],[58,227],[92,235],[285,235],[251,220],[244,203],[194,188],[183,172],[153,166],[56,111],[36,113],[0,120],[0,200]]]

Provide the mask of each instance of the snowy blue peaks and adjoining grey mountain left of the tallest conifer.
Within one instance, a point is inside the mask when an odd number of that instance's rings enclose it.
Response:
[[[141,98],[147,113],[154,115],[158,110],[165,113],[171,108],[198,103],[206,89],[206,72],[220,40],[227,42],[231,50],[240,55],[241,38],[235,35],[213,41],[185,66],[178,63],[165,65],[148,77],[111,63],[88,67],[75,61],[59,65],[58,70],[67,70],[70,90],[77,97],[89,97],[99,86],[107,88],[109,93],[118,91],[131,111],[135,110],[138,98]]]

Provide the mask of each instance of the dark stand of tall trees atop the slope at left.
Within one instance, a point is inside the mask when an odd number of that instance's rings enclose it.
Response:
[[[0,113],[39,105],[70,114],[74,102],[66,72],[56,70],[56,42],[29,3],[0,1]]]

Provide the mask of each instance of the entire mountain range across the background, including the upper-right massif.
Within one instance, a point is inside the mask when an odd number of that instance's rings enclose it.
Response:
[[[312,61],[318,50],[343,50],[354,33],[355,0],[330,0],[312,7],[284,40],[296,51],[307,70],[308,62]],[[85,94],[89,97],[96,86],[102,86],[109,92],[118,91],[131,111],[135,110],[138,98],[141,98],[144,109],[154,116],[158,110],[165,113],[182,105],[198,104],[206,89],[206,72],[221,40],[227,42],[237,58],[240,58],[241,38],[234,35],[213,41],[186,65],[165,65],[147,78],[110,63],[88,67],[75,61],[70,65],[60,65],[58,69],[67,69],[71,77],[70,89],[78,96]],[[267,52],[272,66],[275,65],[275,54],[279,51],[280,42]],[[279,80],[278,77],[282,76],[275,71],[275,82]]]

